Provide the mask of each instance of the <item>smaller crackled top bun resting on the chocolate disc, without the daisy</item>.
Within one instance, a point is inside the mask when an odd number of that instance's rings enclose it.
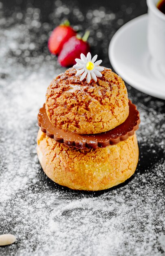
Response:
[[[80,81],[75,68],[59,74],[46,93],[46,113],[59,129],[79,134],[106,132],[128,117],[128,94],[121,77],[104,68],[97,82]]]

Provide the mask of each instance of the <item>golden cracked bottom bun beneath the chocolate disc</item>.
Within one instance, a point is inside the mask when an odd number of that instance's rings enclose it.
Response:
[[[97,191],[116,186],[136,170],[139,148],[136,134],[106,148],[79,149],[37,135],[37,155],[46,175],[70,189]]]

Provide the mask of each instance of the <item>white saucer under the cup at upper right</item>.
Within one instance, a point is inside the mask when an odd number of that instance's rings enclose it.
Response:
[[[147,49],[147,14],[126,23],[114,34],[109,58],[114,70],[128,84],[165,99],[165,66],[155,63]]]

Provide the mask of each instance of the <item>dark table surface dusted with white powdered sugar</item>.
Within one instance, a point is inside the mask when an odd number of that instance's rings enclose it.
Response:
[[[92,55],[112,68],[115,31],[146,12],[145,0],[0,2],[0,234],[17,237],[0,255],[165,255],[165,101],[126,84],[141,115],[139,163],[113,189],[59,186],[36,155],[37,111],[65,70],[47,49],[52,29],[64,18],[82,34],[89,29]]]

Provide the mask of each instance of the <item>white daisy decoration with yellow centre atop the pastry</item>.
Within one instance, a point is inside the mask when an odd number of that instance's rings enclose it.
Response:
[[[100,71],[104,70],[103,67],[99,66],[102,61],[96,61],[97,54],[92,58],[90,52],[88,52],[87,56],[81,53],[80,57],[81,59],[75,59],[77,64],[73,66],[77,70],[76,76],[81,75],[80,81],[86,78],[87,83],[90,83],[91,79],[97,82],[97,76],[101,77],[102,74]]]

